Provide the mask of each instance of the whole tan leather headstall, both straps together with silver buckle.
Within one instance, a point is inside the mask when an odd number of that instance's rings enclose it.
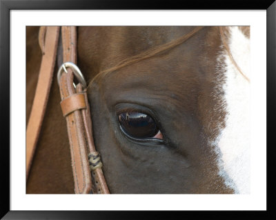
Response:
[[[48,37],[48,35],[50,35],[50,37]],[[58,39],[59,27],[41,27],[39,32],[39,45],[43,49],[43,58],[41,62],[41,71],[39,72],[39,79],[41,77],[41,73],[45,72],[46,66],[49,69],[48,74],[52,74],[53,72],[55,61],[57,59]],[[60,40],[62,41],[63,64],[61,64],[59,68],[57,77],[59,81],[59,90],[61,93],[61,110],[67,123],[70,154],[72,160],[72,172],[75,181],[75,193],[109,194],[108,186],[101,170],[102,163],[99,157],[99,152],[97,152],[95,149],[95,144],[92,137],[92,121],[87,97],[86,81],[84,80],[81,71],[76,66],[77,28],[75,26],[62,26]],[[48,54],[48,48],[53,50],[51,54]],[[46,56],[49,57],[48,59],[50,59],[50,61],[48,61],[46,64],[43,64],[43,59],[45,59]],[[74,81],[78,81],[77,86],[75,86]],[[35,97],[37,97],[38,91],[39,83],[37,85]],[[50,88],[48,88],[48,92],[50,92]],[[36,99],[34,98],[34,101],[35,100]],[[41,106],[44,108],[42,112],[45,112],[46,103],[47,100],[44,101],[43,104],[41,103]],[[39,109],[38,106],[37,108]],[[32,111],[33,110],[34,112],[36,111],[34,109],[34,104],[32,106]],[[40,115],[39,117],[42,117],[43,119],[43,115]],[[28,129],[33,130],[33,126],[30,124],[31,119],[32,112],[27,127],[26,137],[27,177],[36,145],[35,141],[32,141],[32,144],[28,143],[32,139],[38,139],[38,136],[35,138],[32,137],[33,133],[32,135],[28,134]],[[41,123],[39,126],[41,127]],[[40,130],[40,128],[37,130]],[[39,134],[39,131],[37,133]],[[29,154],[30,156],[28,156]]]

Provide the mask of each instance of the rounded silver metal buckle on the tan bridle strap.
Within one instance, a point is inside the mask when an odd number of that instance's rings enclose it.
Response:
[[[77,67],[77,65],[75,65],[72,62],[63,63],[60,66],[59,71],[57,72],[57,82],[60,84],[61,74],[63,72],[67,73],[66,68],[70,68],[73,71],[75,77],[77,78],[77,80],[79,81],[79,83],[81,83],[81,85],[83,86],[83,89],[85,89],[87,87],[86,86],[86,80],[84,79],[83,74],[81,73],[81,70],[79,70],[79,68]],[[73,85],[76,88],[75,83],[73,83]]]

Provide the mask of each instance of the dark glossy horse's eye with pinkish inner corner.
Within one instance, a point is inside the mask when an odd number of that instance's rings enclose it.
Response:
[[[130,137],[137,139],[163,139],[155,121],[141,112],[123,112],[119,114],[121,129]]]

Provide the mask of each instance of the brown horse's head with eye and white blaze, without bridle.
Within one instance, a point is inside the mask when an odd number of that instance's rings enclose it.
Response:
[[[38,33],[26,28],[26,121]],[[248,26],[79,26],[77,66],[110,193],[250,193]],[[60,101],[54,80],[28,194],[74,193]]]

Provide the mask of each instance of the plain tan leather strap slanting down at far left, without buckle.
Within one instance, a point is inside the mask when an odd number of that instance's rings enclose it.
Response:
[[[37,89],[34,94],[34,101],[26,130],[26,180],[30,172],[32,158],[39,139],[39,132],[50,94],[52,74],[57,57],[58,39],[59,27],[41,27],[39,32],[39,45],[41,46],[43,56],[39,70]]]

